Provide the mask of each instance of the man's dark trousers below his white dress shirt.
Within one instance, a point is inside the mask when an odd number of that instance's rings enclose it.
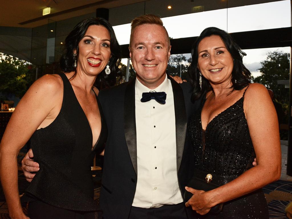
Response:
[[[128,219],[186,219],[186,208],[182,202],[176,205],[164,205],[160,208],[138,208],[132,206]]]

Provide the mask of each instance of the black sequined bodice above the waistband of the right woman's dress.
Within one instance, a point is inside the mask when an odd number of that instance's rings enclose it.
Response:
[[[220,175],[240,175],[251,168],[255,152],[243,111],[244,97],[225,109],[202,129],[201,108],[192,115],[189,133],[194,147],[195,167]],[[205,145],[203,143],[203,134]]]

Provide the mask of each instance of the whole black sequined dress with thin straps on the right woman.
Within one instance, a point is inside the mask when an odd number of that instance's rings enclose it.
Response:
[[[188,132],[194,147],[196,177],[204,179],[211,173],[212,183],[224,185],[252,168],[255,152],[243,101],[244,95],[211,120],[206,131],[201,124],[201,111],[205,100],[192,115]],[[269,215],[265,196],[260,189],[225,203],[223,211],[217,215],[194,213],[194,218],[268,219]]]

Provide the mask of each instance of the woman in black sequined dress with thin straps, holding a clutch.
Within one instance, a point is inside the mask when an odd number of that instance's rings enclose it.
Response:
[[[267,89],[250,84],[251,73],[242,63],[246,54],[227,32],[206,28],[192,49],[192,98],[204,97],[188,126],[194,175],[204,179],[211,173],[220,187],[208,192],[186,187],[193,194],[186,206],[197,212],[194,218],[269,218],[261,187],[279,179],[281,150]],[[208,213],[223,202],[222,212]]]

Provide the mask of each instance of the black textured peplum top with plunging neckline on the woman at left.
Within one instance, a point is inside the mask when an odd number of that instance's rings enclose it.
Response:
[[[39,199],[52,206],[74,211],[94,211],[91,162],[102,150],[107,128],[100,107],[102,128],[92,149],[92,131],[74,90],[65,74],[60,113],[47,127],[31,137],[34,161],[40,170],[27,188],[22,201]]]

